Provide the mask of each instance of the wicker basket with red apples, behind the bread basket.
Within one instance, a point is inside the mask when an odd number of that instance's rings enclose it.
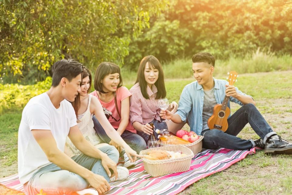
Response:
[[[176,137],[179,137],[189,142],[187,144],[182,144],[182,146],[189,148],[191,151],[193,151],[194,155],[202,151],[202,145],[203,145],[202,140],[204,136],[197,135],[193,131],[188,132],[186,130],[181,129],[176,132]],[[162,145],[165,145],[165,144],[162,144]]]

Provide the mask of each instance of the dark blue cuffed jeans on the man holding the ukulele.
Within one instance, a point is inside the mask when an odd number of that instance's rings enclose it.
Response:
[[[218,147],[224,147],[228,149],[246,150],[255,147],[253,140],[243,140],[236,137],[247,123],[264,140],[264,144],[267,138],[276,134],[253,104],[243,105],[227,121],[228,129],[225,133],[218,129],[206,129],[202,131],[201,135],[204,136],[204,148],[217,149]]]

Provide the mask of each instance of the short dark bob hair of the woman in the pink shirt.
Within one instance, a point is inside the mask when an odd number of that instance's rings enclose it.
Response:
[[[94,89],[100,93],[107,93],[103,91],[103,83],[101,81],[109,74],[119,73],[120,75],[120,83],[118,84],[117,88],[123,86],[123,80],[121,76],[120,67],[111,62],[102,62],[96,69],[95,77],[94,77]]]

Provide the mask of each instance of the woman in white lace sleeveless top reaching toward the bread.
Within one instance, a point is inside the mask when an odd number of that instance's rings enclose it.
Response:
[[[130,148],[128,144],[120,137],[116,130],[111,126],[107,120],[102,105],[99,100],[88,94],[91,88],[92,76],[90,71],[84,67],[84,72],[82,76],[81,92],[72,102],[74,107],[77,124],[80,132],[83,134],[86,140],[90,141],[96,147],[101,147],[104,144],[100,144],[98,135],[93,128],[92,115],[94,114],[96,118],[100,121],[100,124],[106,129],[106,134],[117,144],[124,148],[127,156],[131,161],[135,161],[137,157],[140,157],[136,151]],[[65,153],[69,156],[76,154],[81,154],[81,152],[74,146],[71,140],[67,137]]]

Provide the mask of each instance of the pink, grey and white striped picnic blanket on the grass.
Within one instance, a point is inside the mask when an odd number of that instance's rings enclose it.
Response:
[[[255,148],[251,150],[230,150],[225,148],[204,150],[194,156],[188,171],[159,177],[151,177],[144,170],[143,161],[140,159],[136,161],[136,166],[129,170],[130,175],[127,179],[110,183],[111,190],[106,194],[178,194],[192,183],[230,167],[248,154],[255,154]],[[0,183],[9,188],[23,191],[17,174],[0,179]]]

